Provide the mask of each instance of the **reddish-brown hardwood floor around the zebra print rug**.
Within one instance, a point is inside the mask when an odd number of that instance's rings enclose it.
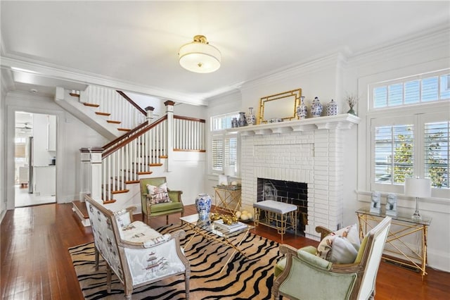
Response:
[[[90,227],[83,227],[71,204],[46,204],[8,211],[1,222],[1,299],[83,299],[68,248],[92,242]],[[186,215],[195,213],[186,206]],[[169,223],[178,223],[171,215]],[[141,220],[140,215],[135,215]],[[165,225],[165,218],[150,221]],[[255,233],[277,242],[275,230],[259,226]],[[285,235],[285,244],[299,248],[318,242]],[[428,268],[420,274],[382,262],[378,271],[375,299],[449,299],[450,273]],[[197,299],[194,299],[197,300]]]

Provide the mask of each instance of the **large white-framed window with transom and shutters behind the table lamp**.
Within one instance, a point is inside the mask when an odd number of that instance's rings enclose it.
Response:
[[[406,177],[432,182],[432,196],[450,197],[450,70],[369,85],[370,185],[404,193]]]

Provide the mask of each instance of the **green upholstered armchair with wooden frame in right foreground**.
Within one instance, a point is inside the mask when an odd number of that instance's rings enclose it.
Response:
[[[314,246],[295,249],[282,244],[280,252],[285,257],[274,270],[274,299],[373,299],[390,224],[391,218],[386,217],[367,233],[354,263],[326,261],[316,256]]]

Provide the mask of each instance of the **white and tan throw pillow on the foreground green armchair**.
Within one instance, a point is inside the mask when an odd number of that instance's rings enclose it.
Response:
[[[359,246],[358,227],[354,224],[324,237],[317,247],[316,256],[332,263],[353,263]]]

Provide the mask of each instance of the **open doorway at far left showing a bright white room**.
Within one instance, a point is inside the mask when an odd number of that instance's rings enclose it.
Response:
[[[56,202],[56,115],[15,112],[15,207]]]

